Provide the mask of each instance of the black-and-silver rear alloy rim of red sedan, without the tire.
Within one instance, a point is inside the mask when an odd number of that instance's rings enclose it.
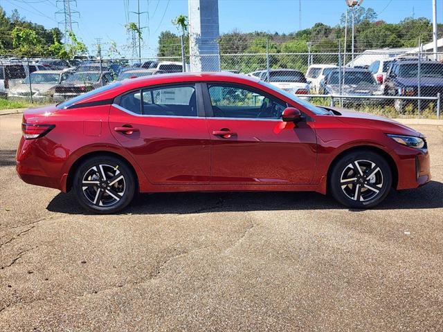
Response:
[[[123,198],[126,190],[125,176],[118,166],[98,164],[89,168],[82,178],[82,192],[90,203],[110,207]]]

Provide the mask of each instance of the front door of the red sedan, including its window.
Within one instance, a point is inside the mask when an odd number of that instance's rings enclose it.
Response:
[[[287,107],[250,86],[202,84],[211,137],[211,184],[307,184],[316,168],[311,122],[282,122]]]

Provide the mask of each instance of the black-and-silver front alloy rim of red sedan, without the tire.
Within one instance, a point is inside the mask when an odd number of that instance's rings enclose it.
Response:
[[[381,192],[383,173],[370,160],[355,160],[343,169],[340,185],[345,195],[353,201],[369,201]]]

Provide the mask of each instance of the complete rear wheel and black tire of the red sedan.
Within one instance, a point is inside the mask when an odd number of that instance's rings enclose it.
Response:
[[[131,203],[136,192],[136,179],[123,160],[113,156],[95,156],[84,160],[78,167],[73,189],[83,208],[109,214]]]

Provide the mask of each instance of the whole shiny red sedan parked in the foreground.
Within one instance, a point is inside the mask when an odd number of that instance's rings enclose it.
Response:
[[[329,192],[370,208],[430,180],[421,133],[229,73],[114,83],[29,109],[22,128],[19,176],[99,213],[136,192],[233,190]]]

